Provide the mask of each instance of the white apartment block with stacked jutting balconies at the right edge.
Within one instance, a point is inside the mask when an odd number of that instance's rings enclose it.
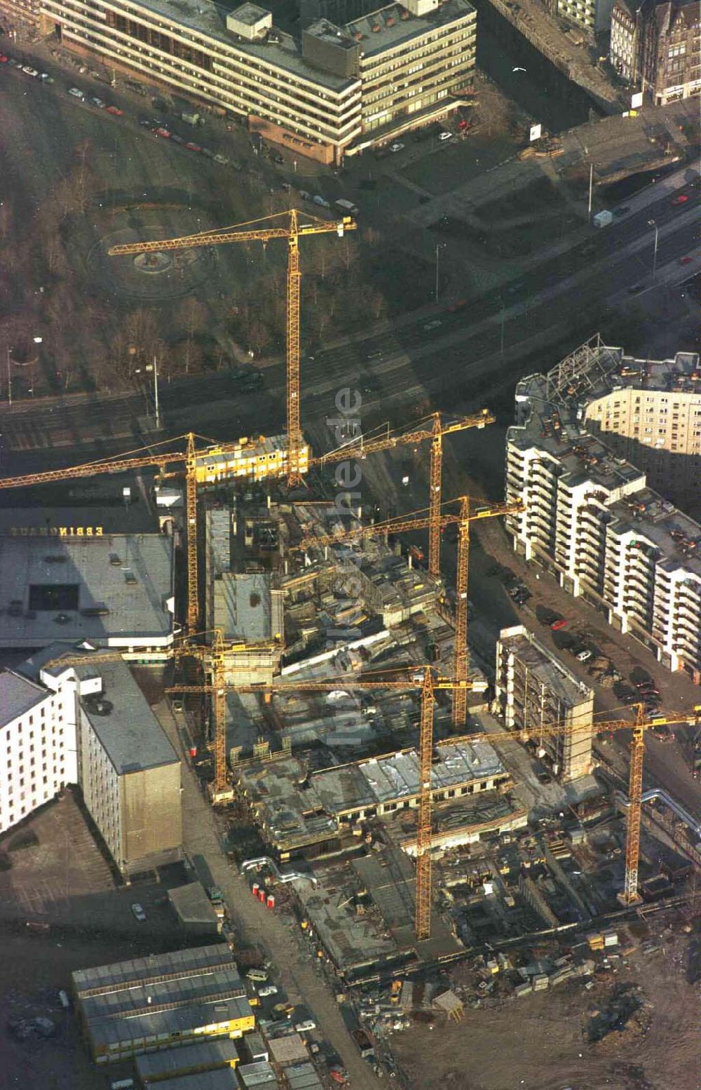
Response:
[[[690,365],[698,368],[698,356]],[[642,470],[604,445],[608,435],[588,431],[601,428],[606,408],[613,426],[618,392],[619,412],[624,397],[634,399],[634,408],[640,397],[634,438],[636,426],[641,439],[654,438],[643,393],[623,392],[629,366],[620,349],[594,338],[546,375],[529,375],[517,385],[517,423],[506,439],[506,498],[522,500],[524,511],[506,524],[518,553],[553,571],[565,590],[586,597],[613,627],[637,635],[669,669],[684,669],[698,681],[701,526],[650,489]],[[601,405],[602,417],[594,409],[604,387],[611,403]],[[675,421],[674,407],[681,401],[672,390],[662,397],[673,416],[668,432],[659,425],[664,440],[675,423],[679,433],[681,410]],[[687,439],[693,445],[696,436]]]

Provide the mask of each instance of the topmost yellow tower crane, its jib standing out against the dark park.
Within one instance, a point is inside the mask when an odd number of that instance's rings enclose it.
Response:
[[[266,225],[266,226],[262,226]],[[158,253],[162,250],[189,250],[193,246],[219,246],[230,242],[255,242],[263,244],[271,239],[287,240],[287,483],[302,483],[299,451],[302,449],[302,423],[299,407],[299,300],[302,271],[299,269],[299,239],[307,234],[333,232],[343,237],[354,231],[356,223],[349,216],[329,222],[306,213],[302,217],[296,208],[275,213],[245,223],[234,223],[214,231],[200,231],[177,239],[162,239],[158,242],[131,242],[108,250],[110,256],[120,254]]]

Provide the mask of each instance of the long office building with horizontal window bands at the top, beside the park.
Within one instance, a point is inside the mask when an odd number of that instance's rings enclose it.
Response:
[[[36,21],[32,0],[0,0],[5,20]],[[292,152],[340,164],[456,109],[475,69],[468,0],[406,0],[300,37],[272,13],[212,0],[38,0],[42,34],[230,116]],[[292,26],[292,24],[291,24]]]

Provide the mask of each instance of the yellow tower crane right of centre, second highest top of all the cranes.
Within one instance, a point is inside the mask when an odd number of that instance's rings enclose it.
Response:
[[[341,462],[346,458],[365,458],[370,453],[379,453],[382,450],[394,450],[399,446],[410,446],[418,443],[431,440],[431,461],[429,471],[429,574],[438,579],[441,574],[441,526],[440,513],[442,498],[443,479],[443,436],[453,435],[455,432],[464,432],[469,427],[485,427],[496,420],[489,409],[482,409],[479,413],[470,416],[460,416],[443,423],[440,412],[433,412],[427,417],[425,425],[419,424],[408,432],[399,432],[396,435],[380,436],[377,439],[365,440],[362,438],[348,443],[328,455],[320,455],[310,461],[310,465],[325,465],[327,462]],[[429,421],[431,424],[429,426]]]

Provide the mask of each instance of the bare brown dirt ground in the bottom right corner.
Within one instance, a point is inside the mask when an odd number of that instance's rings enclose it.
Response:
[[[392,1039],[411,1086],[421,1090],[698,1090],[699,989],[688,983],[687,935],[631,955],[615,976],[467,1010],[462,1022],[415,1024]],[[628,1027],[588,1042],[594,1010],[614,988],[641,988]]]

